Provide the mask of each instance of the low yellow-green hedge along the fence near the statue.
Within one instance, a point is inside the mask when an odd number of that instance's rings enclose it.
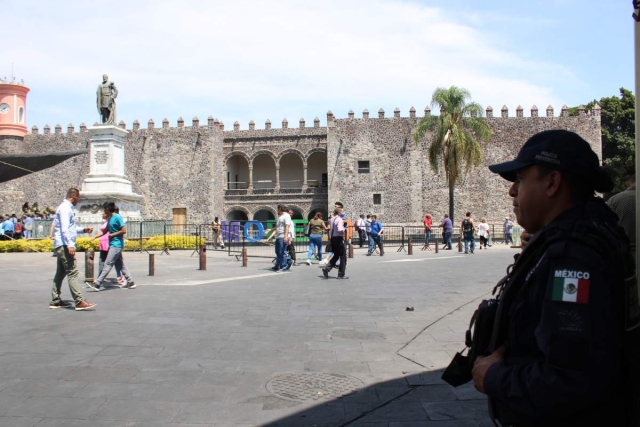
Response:
[[[195,236],[167,235],[167,246],[169,249],[195,249]],[[142,248],[146,250],[164,249],[165,236],[154,236],[142,239]],[[204,244],[204,239],[200,238],[200,243]],[[125,251],[140,249],[140,240],[125,240]],[[53,250],[52,239],[18,239],[0,241],[0,253],[7,252],[51,252]],[[76,240],[76,250],[84,252],[87,250],[98,250],[98,240],[90,242],[89,237],[78,237]]]

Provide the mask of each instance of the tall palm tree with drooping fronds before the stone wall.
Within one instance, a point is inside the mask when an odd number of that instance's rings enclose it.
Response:
[[[435,130],[429,147],[429,164],[438,173],[441,163],[449,185],[449,216],[453,222],[453,189],[460,179],[482,162],[480,142],[488,142],[491,129],[481,118],[482,107],[467,100],[467,89],[439,87],[433,92],[431,106],[440,107],[439,116],[425,116],[413,132],[416,144],[427,132]],[[463,175],[464,167],[464,175]]]

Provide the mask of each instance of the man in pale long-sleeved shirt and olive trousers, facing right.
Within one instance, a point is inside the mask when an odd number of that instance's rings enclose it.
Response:
[[[49,308],[70,307],[66,301],[60,299],[60,288],[64,276],[68,277],[69,290],[76,302],[76,311],[89,310],[96,306],[84,300],[78,286],[78,265],[76,263],[76,237],[78,233],[91,233],[92,228],[81,228],[76,226],[76,217],[73,214],[73,207],[78,204],[80,191],[77,188],[70,188],[67,191],[66,199],[58,206],[53,218],[53,247],[58,263],[56,275],[53,278],[53,288],[51,289],[51,303]]]

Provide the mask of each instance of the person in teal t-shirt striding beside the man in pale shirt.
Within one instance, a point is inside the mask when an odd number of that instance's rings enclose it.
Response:
[[[106,204],[104,207],[104,213],[109,218],[109,252],[107,253],[107,259],[104,262],[104,268],[100,272],[98,278],[91,283],[87,282],[87,286],[96,291],[99,291],[103,286],[104,279],[115,265],[118,266],[124,276],[124,281],[121,282],[122,284],[120,287],[123,289],[136,289],[137,287],[129,273],[129,269],[122,259],[124,235],[127,233],[127,227],[125,226],[124,220],[120,214],[116,213],[116,209],[116,205],[113,202]]]

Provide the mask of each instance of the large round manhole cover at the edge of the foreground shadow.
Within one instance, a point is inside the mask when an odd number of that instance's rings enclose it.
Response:
[[[304,372],[280,374],[267,383],[269,393],[295,401],[329,400],[364,388],[359,379],[343,374]]]

